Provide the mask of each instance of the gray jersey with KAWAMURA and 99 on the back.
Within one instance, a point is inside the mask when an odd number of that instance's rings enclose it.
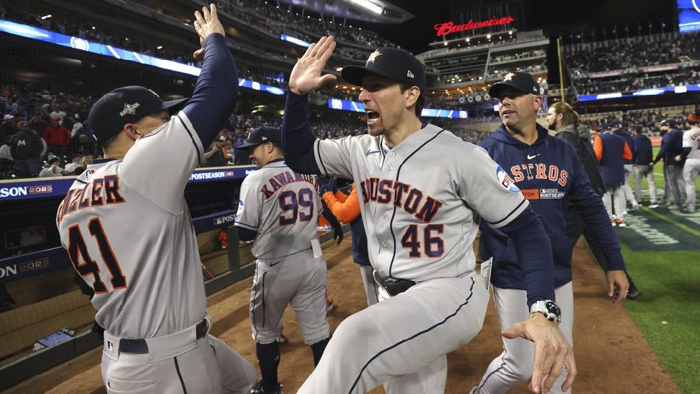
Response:
[[[255,258],[281,259],[311,248],[321,211],[316,176],[297,174],[279,159],[243,180],[235,225],[258,233]]]

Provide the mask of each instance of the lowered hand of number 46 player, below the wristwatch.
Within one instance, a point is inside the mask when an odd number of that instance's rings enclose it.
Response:
[[[561,391],[571,387],[576,377],[573,349],[556,323],[547,321],[540,313],[534,313],[526,321],[515,323],[500,334],[507,339],[521,337],[535,343],[535,360],[530,381],[530,390],[533,393],[540,393],[540,388],[542,393],[548,393],[556,379],[559,379],[563,368],[566,368],[566,381],[561,385]]]

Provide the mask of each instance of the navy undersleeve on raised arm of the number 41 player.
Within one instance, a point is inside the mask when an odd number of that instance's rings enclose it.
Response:
[[[183,112],[207,149],[236,105],[238,73],[221,34],[210,34],[204,41],[203,63],[195,91]]]

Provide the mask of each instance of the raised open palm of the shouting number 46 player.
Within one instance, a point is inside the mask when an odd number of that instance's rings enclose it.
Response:
[[[294,94],[307,94],[326,83],[337,80],[333,74],[321,76],[325,64],[335,49],[333,36],[323,36],[318,43],[312,43],[304,56],[297,60],[289,76],[289,90]]]

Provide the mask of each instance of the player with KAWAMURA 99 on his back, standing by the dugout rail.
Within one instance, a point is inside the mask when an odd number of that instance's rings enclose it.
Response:
[[[277,381],[282,316],[292,305],[314,365],[328,344],[325,319],[326,267],[318,243],[323,210],[316,176],[297,174],[284,163],[279,129],[259,127],[241,146],[252,148],[258,171],[241,185],[235,226],[252,241],[257,259],[251,290],[251,326],[262,380],[251,393],[279,393]]]

